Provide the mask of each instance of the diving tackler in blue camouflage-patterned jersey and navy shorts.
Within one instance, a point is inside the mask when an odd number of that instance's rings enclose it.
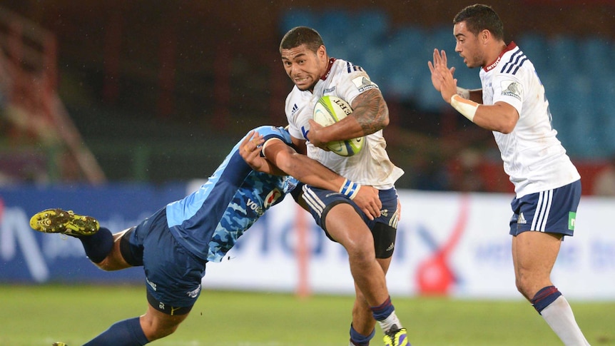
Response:
[[[240,155],[240,151],[255,152],[257,146],[275,149],[272,158],[266,157],[269,149],[263,150],[267,161],[261,162],[271,165],[268,171],[274,174],[253,170]],[[102,270],[143,266],[146,313],[114,323],[85,345],[145,345],[175,332],[200,294],[205,264],[220,262],[265,210],[295,190],[298,180],[335,191],[350,184],[353,188],[345,192],[366,217],[380,216],[382,205],[375,188],[348,182],[296,153],[284,128],[261,126],[233,147],[198,190],[132,228],[113,234],[95,218],[61,209],[36,213],[30,225],[40,232],[78,238],[88,258]]]

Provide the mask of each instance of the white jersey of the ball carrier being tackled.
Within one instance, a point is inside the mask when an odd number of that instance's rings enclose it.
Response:
[[[307,140],[305,133],[310,130],[308,120],[312,118],[314,106],[321,96],[337,96],[352,104],[355,97],[363,91],[378,88],[360,66],[348,61],[332,58],[329,68],[327,74],[316,83],[313,93],[300,91],[295,86],[288,94],[285,112],[290,136]],[[404,173],[390,161],[385,150],[387,143],[382,136],[382,130],[365,136],[362,150],[350,157],[324,151],[309,141],[307,145],[308,157],[362,185],[372,185],[380,189],[392,188],[395,181]]]

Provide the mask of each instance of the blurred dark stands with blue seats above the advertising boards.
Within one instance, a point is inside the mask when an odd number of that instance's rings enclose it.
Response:
[[[613,1],[490,4],[507,40],[537,66],[589,193],[615,154]],[[305,24],[320,31],[332,56],[365,66],[380,84],[392,118],[390,155],[406,171],[400,188],[509,192],[490,133],[445,107],[427,78],[438,47],[451,53],[463,86],[478,86],[477,71],[452,54],[450,22],[461,6],[3,1],[0,171],[9,182],[206,177],[246,129],[285,123],[290,81],[278,44]],[[465,184],[466,170],[482,179]]]

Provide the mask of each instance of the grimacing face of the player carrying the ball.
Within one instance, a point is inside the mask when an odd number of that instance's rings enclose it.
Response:
[[[310,51],[308,46],[282,50],[282,63],[286,74],[301,91],[313,90],[322,74],[327,71],[328,59],[325,46]]]

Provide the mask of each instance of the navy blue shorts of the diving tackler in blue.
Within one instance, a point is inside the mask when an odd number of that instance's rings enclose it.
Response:
[[[177,243],[166,220],[166,208],[129,231],[131,253],[141,260],[146,275],[148,302],[168,315],[184,315],[200,295],[205,260]]]

